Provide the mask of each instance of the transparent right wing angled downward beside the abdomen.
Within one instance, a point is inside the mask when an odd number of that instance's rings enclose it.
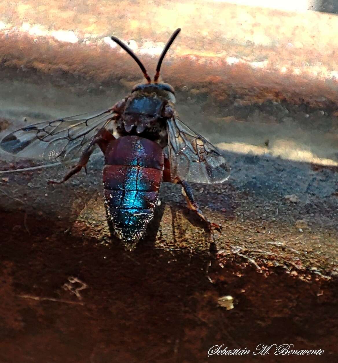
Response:
[[[217,147],[177,116],[167,121],[167,131],[172,179],[213,184],[229,178],[230,168]]]

